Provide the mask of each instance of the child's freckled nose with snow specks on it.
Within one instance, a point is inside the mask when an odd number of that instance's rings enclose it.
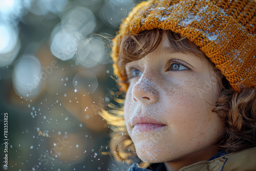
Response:
[[[158,99],[155,83],[151,79],[140,78],[132,89],[132,99],[146,104],[155,103]]]

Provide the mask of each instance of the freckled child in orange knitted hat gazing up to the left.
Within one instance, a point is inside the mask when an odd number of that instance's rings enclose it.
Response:
[[[123,114],[101,113],[113,156],[143,161],[129,170],[256,170],[255,25],[254,1],[138,4],[112,47]]]

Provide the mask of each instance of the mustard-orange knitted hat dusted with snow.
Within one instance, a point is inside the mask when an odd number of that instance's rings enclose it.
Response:
[[[151,0],[138,4],[120,25],[111,57],[119,86],[129,84],[120,60],[118,40],[125,34],[152,29],[171,30],[194,42],[226,77],[234,91],[238,83],[256,88],[256,3],[247,0]],[[121,89],[122,90],[122,89]]]

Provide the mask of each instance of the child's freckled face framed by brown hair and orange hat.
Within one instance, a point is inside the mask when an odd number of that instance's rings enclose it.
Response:
[[[213,144],[224,130],[211,112],[220,93],[217,74],[205,57],[170,53],[167,40],[160,46],[125,66],[126,71],[135,68],[130,71],[134,77],[125,97],[124,119],[136,153],[152,163],[208,160],[216,154]],[[168,59],[175,61],[168,64]],[[162,125],[134,125],[139,116],[137,121],[152,123],[152,118]]]

